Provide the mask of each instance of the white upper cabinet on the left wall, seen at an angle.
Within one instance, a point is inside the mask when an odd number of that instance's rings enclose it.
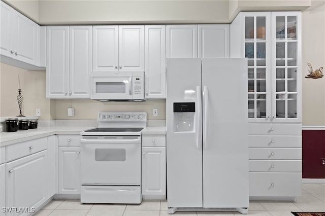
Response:
[[[44,66],[40,62],[40,38],[37,23],[1,2],[1,55],[34,66]],[[14,65],[14,61],[4,60],[8,61],[4,63]]]

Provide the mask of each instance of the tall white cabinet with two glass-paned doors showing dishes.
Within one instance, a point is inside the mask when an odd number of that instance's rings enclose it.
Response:
[[[248,59],[249,122],[301,122],[301,12],[240,16],[231,25],[231,57]]]

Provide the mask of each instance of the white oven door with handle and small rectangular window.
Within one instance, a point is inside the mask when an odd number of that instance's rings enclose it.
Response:
[[[82,185],[140,185],[141,136],[82,136]]]

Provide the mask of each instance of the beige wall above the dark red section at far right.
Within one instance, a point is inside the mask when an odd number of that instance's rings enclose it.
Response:
[[[307,79],[307,62],[325,68],[325,2],[312,1],[302,13],[302,111],[303,125],[325,125],[325,78]],[[323,70],[325,75],[325,70]]]

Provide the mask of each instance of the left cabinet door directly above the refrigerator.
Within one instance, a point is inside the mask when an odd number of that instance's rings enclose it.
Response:
[[[198,57],[198,25],[167,25],[166,57]]]

